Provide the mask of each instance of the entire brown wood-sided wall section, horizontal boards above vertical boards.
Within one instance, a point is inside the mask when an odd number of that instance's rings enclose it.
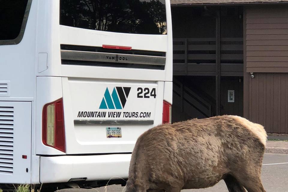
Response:
[[[244,117],[288,133],[288,6],[245,7],[243,23]]]

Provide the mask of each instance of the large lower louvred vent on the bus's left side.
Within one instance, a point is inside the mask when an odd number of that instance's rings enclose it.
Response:
[[[0,106],[0,174],[13,174],[14,108]]]

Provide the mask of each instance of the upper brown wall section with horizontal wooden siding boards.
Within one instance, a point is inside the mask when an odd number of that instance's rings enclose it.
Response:
[[[247,72],[288,72],[288,5],[246,7]]]

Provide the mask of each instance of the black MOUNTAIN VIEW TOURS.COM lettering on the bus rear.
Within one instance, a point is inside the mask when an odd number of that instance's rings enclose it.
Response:
[[[77,117],[96,118],[150,118],[151,112],[79,111]]]

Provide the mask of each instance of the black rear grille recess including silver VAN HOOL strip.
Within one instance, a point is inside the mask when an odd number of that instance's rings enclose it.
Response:
[[[136,49],[116,50],[102,47],[61,45],[61,63],[164,70],[166,53]]]

